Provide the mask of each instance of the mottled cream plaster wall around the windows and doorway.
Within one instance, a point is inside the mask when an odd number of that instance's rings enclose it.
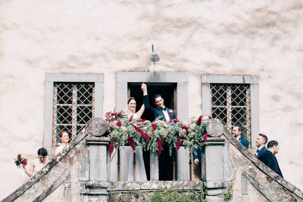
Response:
[[[189,117],[201,113],[201,74],[259,77],[260,132],[280,143],[286,180],[303,189],[303,3],[294,1],[26,1],[0,3],[0,198],[23,179],[13,158],[43,146],[45,73],[116,72],[157,64],[189,73]]]

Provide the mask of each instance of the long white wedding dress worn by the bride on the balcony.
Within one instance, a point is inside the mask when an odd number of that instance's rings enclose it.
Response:
[[[130,117],[130,116],[129,116]],[[133,114],[137,118],[137,114]],[[131,146],[121,149],[121,181],[133,181],[133,150]],[[136,146],[136,181],[146,181],[142,148]]]

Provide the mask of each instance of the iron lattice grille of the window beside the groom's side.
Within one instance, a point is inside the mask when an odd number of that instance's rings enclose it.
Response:
[[[239,123],[250,137],[250,88],[248,84],[211,84],[211,116],[230,129]]]

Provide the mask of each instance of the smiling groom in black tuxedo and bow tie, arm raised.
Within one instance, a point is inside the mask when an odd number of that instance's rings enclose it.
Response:
[[[153,112],[155,119],[161,117],[160,120],[166,121],[167,123],[171,119],[176,119],[174,110],[164,106],[164,99],[160,94],[154,96],[154,103],[157,108],[152,108],[149,105],[147,86],[145,83],[141,84],[141,89],[143,91],[145,109]],[[167,144],[163,144],[163,150],[159,157],[159,180],[173,180],[173,157],[169,156],[169,147]]]

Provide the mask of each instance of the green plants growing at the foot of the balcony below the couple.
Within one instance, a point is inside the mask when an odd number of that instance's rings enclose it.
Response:
[[[150,198],[151,202],[198,202],[199,194],[197,192],[177,192],[161,191],[156,192]]]

